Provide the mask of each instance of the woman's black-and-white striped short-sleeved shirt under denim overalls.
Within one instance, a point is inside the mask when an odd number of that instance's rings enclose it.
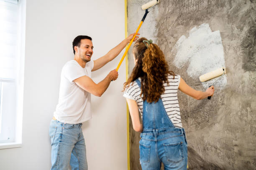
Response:
[[[179,101],[178,101],[178,88],[180,82],[180,75],[176,75],[173,79],[172,75],[168,76],[168,84],[164,83],[164,93],[161,94],[161,99],[164,104],[167,115],[176,128],[182,128]],[[123,96],[137,102],[141,118],[143,117],[143,100],[141,95],[141,88],[137,82],[131,82],[130,86],[125,89]]]

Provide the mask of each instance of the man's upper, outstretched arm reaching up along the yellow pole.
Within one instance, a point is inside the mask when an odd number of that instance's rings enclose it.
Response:
[[[106,55],[98,58],[97,60],[94,60],[94,66],[92,71],[98,70],[101,67],[103,67],[108,62],[112,61],[118,54],[123,50],[123,48],[131,41],[135,33],[129,35],[127,38],[125,38],[120,44],[118,44],[116,47],[111,49]],[[140,35],[140,34],[137,34]],[[134,41],[137,40],[138,36],[135,37]]]

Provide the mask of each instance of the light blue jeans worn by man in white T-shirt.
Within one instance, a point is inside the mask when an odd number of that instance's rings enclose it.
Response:
[[[51,170],[88,170],[81,126],[51,120]]]

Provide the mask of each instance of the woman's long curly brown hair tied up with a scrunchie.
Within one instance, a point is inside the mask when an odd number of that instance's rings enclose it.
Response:
[[[133,55],[137,60],[133,71],[127,82],[123,85],[123,90],[130,86],[138,77],[141,77],[141,95],[147,102],[157,102],[164,93],[164,82],[168,82],[168,75],[175,76],[174,72],[169,71],[169,66],[164,58],[164,53],[158,45],[151,43],[148,48],[143,43],[147,40],[144,37],[136,40],[133,45]],[[140,96],[141,96],[140,95]]]

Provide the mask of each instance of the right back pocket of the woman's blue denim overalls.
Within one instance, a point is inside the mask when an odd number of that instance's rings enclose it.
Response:
[[[184,159],[183,143],[164,143],[166,158],[171,163],[179,163]]]

